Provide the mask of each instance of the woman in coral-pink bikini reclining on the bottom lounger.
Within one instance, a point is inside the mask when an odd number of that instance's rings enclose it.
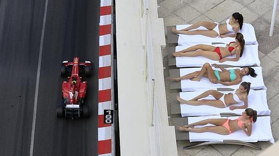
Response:
[[[257,120],[257,111],[251,108],[247,108],[242,116],[235,120],[230,119],[206,119],[198,121],[189,125],[184,125],[183,127],[178,126],[178,129],[186,132],[213,132],[221,135],[229,135],[230,133],[242,129],[247,136],[251,136],[252,133],[252,123]],[[195,128],[195,126],[213,124],[215,126],[206,126],[203,128]],[[246,130],[247,129],[247,130]]]

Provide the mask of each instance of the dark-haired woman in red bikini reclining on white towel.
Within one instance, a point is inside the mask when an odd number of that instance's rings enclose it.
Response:
[[[241,33],[235,36],[236,42],[231,42],[226,47],[215,47],[206,44],[197,44],[187,49],[175,52],[172,54],[174,57],[197,57],[203,56],[212,60],[225,61],[238,61],[242,57],[245,41]],[[224,58],[236,54],[235,58]]]

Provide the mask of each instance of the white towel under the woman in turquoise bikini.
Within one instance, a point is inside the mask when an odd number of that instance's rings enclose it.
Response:
[[[227,70],[231,69],[242,69],[239,67],[234,67],[234,68],[227,68]],[[255,72],[258,74],[257,77],[251,77],[250,75],[246,75],[242,77],[242,82],[250,82],[251,83],[251,89],[266,89],[263,83],[263,73],[262,73],[262,67],[253,67]],[[195,71],[200,71],[201,68],[183,68],[180,69],[180,75],[184,76],[186,74],[195,72]],[[219,70],[218,68],[214,68],[213,70]],[[181,80],[181,90],[183,92],[185,91],[206,91],[209,89],[216,89],[216,88],[232,88],[232,89],[237,89],[239,88],[239,85],[222,85],[222,84],[214,84],[209,81],[207,77],[201,77],[200,81],[191,81],[189,79],[187,80]]]

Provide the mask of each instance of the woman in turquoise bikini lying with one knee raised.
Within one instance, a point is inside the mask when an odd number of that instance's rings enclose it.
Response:
[[[252,77],[257,76],[255,70],[251,67],[245,67],[242,70],[226,70],[225,68],[217,64],[213,64],[213,66],[219,67],[221,71],[213,70],[209,63],[205,63],[200,71],[195,71],[182,77],[171,77],[171,79],[175,80],[176,82],[179,82],[184,79],[199,81],[200,78],[203,76],[208,77],[208,79],[215,84],[219,83],[222,85],[237,85],[241,82],[242,77],[245,75],[250,75]]]

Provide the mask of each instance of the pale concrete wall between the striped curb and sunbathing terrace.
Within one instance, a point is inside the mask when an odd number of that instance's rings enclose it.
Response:
[[[153,127],[153,92],[147,78],[146,19],[143,3],[148,2],[152,34],[154,90],[160,114],[160,136]],[[176,156],[174,127],[168,126],[164,89],[163,19],[157,16],[156,0],[116,0],[116,50],[118,113],[121,156]],[[149,62],[148,62],[149,63]],[[158,130],[158,129],[157,129]],[[158,136],[158,135],[157,135]],[[156,150],[157,147],[157,150]],[[160,148],[161,152],[158,152]]]

